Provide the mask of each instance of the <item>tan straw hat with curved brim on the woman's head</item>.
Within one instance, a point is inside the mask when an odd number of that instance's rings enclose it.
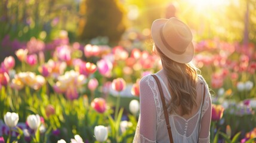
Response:
[[[194,57],[192,32],[177,18],[153,21],[151,32],[155,45],[171,60],[189,63]]]

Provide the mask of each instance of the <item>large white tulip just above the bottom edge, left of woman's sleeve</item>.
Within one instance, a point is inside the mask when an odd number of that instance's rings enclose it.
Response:
[[[95,126],[94,128],[94,135],[97,141],[103,142],[106,141],[108,136],[108,130],[105,126]]]

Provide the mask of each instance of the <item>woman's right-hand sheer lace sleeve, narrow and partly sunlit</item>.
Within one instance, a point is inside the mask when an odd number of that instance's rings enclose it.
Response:
[[[203,80],[203,83],[206,88],[205,92],[205,102],[203,104],[203,110],[202,110],[202,119],[201,119],[201,128],[199,133],[199,142],[209,142],[209,129],[211,125],[211,116],[212,116],[212,101],[211,101],[211,95],[209,93],[209,88],[203,77],[201,77]]]

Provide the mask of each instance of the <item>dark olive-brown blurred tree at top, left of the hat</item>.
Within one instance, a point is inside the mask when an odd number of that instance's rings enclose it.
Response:
[[[119,0],[85,0],[80,8],[84,13],[78,27],[81,41],[106,36],[110,44],[118,43],[127,27],[124,6]]]

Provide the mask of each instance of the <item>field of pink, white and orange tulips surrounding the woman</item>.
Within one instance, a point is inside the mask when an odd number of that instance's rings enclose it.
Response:
[[[254,45],[245,52],[237,43],[194,44],[193,62],[212,94],[212,141],[252,142],[256,137]],[[132,142],[139,81],[161,69],[159,57],[137,48],[79,43],[59,43],[47,52],[52,55],[49,59],[44,52],[29,54],[29,49],[21,48],[2,61],[2,141]]]

